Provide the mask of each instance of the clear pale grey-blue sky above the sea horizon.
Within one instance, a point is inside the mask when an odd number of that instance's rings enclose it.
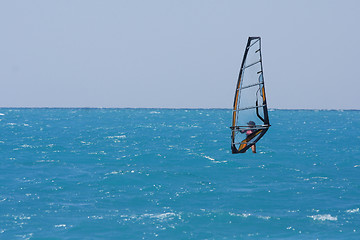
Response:
[[[0,1],[0,107],[232,108],[249,36],[269,108],[360,109],[357,0]]]

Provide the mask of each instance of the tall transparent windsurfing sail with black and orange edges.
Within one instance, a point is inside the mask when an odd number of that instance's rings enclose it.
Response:
[[[232,153],[244,153],[270,127],[260,37],[248,39],[236,84],[232,114],[231,150]]]

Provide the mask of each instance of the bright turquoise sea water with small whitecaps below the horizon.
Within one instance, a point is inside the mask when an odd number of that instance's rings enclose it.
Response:
[[[0,109],[0,239],[360,239],[360,111]]]

